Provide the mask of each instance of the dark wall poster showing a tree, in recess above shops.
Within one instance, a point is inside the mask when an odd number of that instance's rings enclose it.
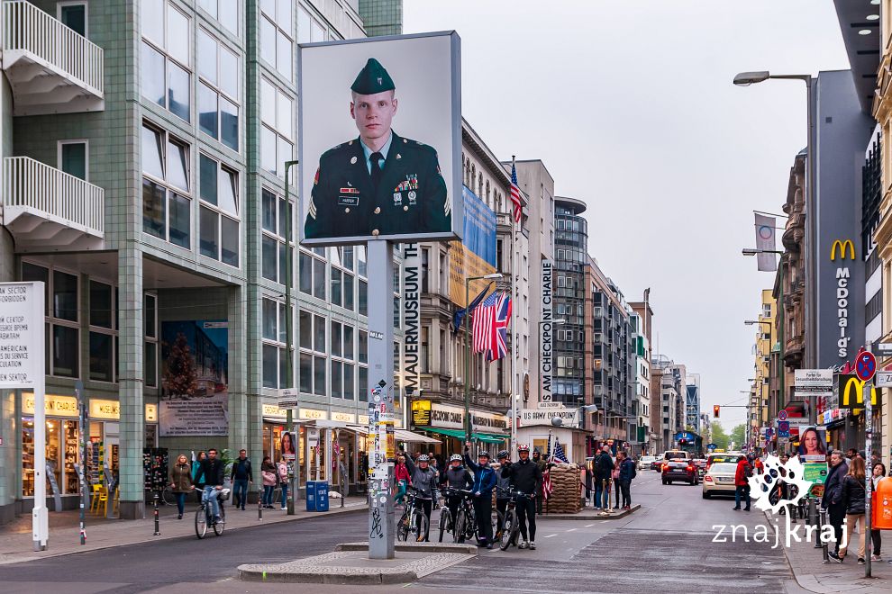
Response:
[[[229,433],[229,324],[161,323],[160,437]]]

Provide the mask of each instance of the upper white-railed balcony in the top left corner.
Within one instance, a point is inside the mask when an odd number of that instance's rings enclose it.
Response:
[[[102,49],[30,2],[3,3],[3,67],[14,115],[105,109]]]

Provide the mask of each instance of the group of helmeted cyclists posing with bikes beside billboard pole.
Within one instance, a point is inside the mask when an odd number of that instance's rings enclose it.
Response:
[[[441,492],[446,507],[451,512],[450,517],[456,518],[461,504],[461,495],[457,493],[469,491],[473,498],[478,527],[478,546],[492,549],[494,542],[501,536],[502,515],[514,494],[517,524],[522,537],[518,548],[535,549],[536,494],[542,489],[542,467],[530,458],[530,446],[517,446],[518,460],[514,463],[511,462],[509,452],[502,450],[496,455],[497,467],[490,464],[488,452],[480,452],[475,463],[469,451],[470,443],[466,443],[464,456],[451,455],[449,466],[443,473],[431,467],[431,458],[428,455],[419,455],[413,461],[412,456],[405,452],[400,453],[405,458],[407,471],[403,475],[405,479],[402,480],[411,481],[415,491],[415,501],[423,507],[424,516],[428,520],[424,523],[423,535],[419,526],[417,540],[419,542],[429,540],[431,511],[434,501],[439,498]],[[399,474],[396,478],[398,482],[401,481]],[[405,489],[401,490],[404,491]],[[496,535],[493,535],[492,526],[493,491],[496,492],[496,509],[501,512],[496,525]]]

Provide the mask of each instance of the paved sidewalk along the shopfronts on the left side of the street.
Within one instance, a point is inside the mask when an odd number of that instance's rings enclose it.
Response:
[[[257,505],[236,510],[232,505],[226,509],[226,530],[257,527],[308,518],[319,518],[332,514],[366,509],[366,498],[348,497],[341,508],[341,500],[330,500],[329,511],[305,511],[305,500],[296,501],[294,516],[288,516],[281,509],[264,509],[263,519],[257,518]],[[21,563],[46,557],[57,557],[66,554],[96,551],[114,546],[134,545],[150,541],[166,540],[192,536],[195,538],[195,513],[198,509],[195,501],[186,505],[186,513],[182,520],[177,520],[177,506],[159,508],[160,535],[154,536],[155,520],[151,506],[146,506],[146,518],[138,520],[120,520],[97,518],[86,514],[86,545],[80,545],[79,512],[77,510],[50,512],[50,541],[46,551],[34,552],[31,533],[31,516],[23,515],[11,524],[0,527],[0,565]]]

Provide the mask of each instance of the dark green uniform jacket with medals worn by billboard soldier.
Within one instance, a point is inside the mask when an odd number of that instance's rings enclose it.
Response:
[[[436,150],[392,134],[377,191],[359,138],[323,153],[313,182],[305,238],[451,230],[451,202]]]

